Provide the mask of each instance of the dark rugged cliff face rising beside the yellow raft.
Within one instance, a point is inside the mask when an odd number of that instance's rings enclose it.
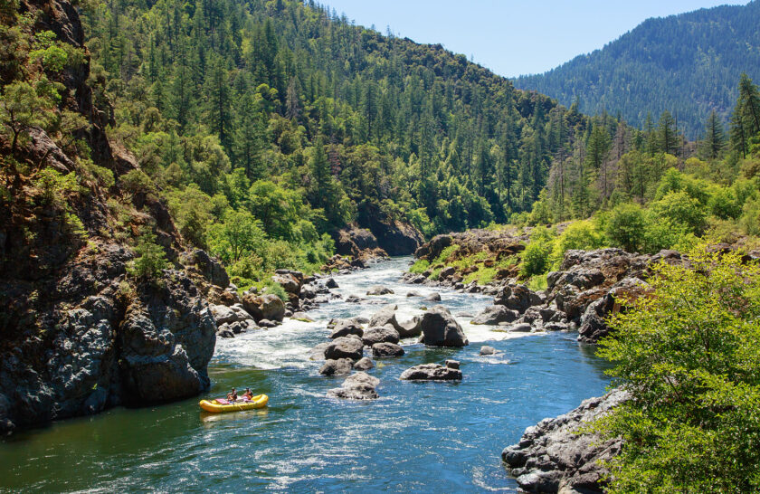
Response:
[[[69,1],[23,0],[19,11],[33,15],[33,33],[49,30],[83,48]],[[120,178],[138,165],[109,143],[108,102],[93,103],[89,76],[86,51],[83,63],[52,76],[65,88],[58,109],[87,120],[76,137],[115,180],[87,179],[88,161],[43,128],[30,128],[14,153],[0,138],[0,157],[25,170],[0,201],[0,432],[116,404],[181,399],[209,385],[216,330],[204,299],[210,284],[176,262],[183,245],[165,205],[123,190]],[[43,200],[40,176],[48,168],[75,173],[76,190]],[[73,217],[80,232],[72,231]],[[175,262],[150,282],[127,272],[141,229],[152,230]]]

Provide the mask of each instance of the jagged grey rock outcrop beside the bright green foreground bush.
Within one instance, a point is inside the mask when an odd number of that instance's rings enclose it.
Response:
[[[629,395],[617,389],[601,398],[585,400],[555,419],[528,427],[518,444],[501,453],[520,488],[527,492],[603,492],[608,470],[600,463],[612,460],[622,442],[602,441],[597,434],[577,431],[627,399]]]

